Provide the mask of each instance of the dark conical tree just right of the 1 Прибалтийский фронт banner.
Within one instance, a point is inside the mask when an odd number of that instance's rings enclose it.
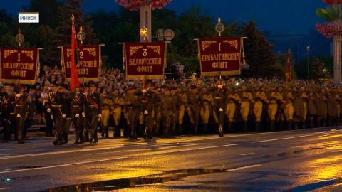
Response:
[[[249,64],[249,70],[244,71],[244,77],[263,78],[274,77],[282,71],[276,68],[276,58],[273,53],[273,46],[269,43],[261,31],[257,29],[254,20],[243,23],[240,36],[244,39],[244,52]]]

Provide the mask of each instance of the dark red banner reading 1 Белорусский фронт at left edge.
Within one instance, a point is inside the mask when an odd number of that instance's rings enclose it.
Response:
[[[39,50],[0,48],[0,64],[1,82],[34,84],[39,70]]]

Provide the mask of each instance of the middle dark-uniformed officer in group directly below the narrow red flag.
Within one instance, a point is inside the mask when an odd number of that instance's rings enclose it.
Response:
[[[83,116],[86,111],[84,107],[84,95],[80,87],[76,87],[75,92],[71,95],[71,117],[75,127],[75,144],[83,143]]]

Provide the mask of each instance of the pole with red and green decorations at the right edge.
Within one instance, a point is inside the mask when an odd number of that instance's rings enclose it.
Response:
[[[326,20],[326,23],[317,23],[316,29],[327,38],[333,38],[333,81],[341,83],[341,4],[342,0],[323,0],[329,6],[317,9],[316,14]]]

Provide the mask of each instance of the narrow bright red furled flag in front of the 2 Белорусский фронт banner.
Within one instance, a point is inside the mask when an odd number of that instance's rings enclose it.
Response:
[[[74,17],[72,16],[72,21]],[[75,32],[75,23],[73,22],[73,26],[71,27],[71,79],[70,79],[70,90],[74,91],[75,87],[80,85],[80,80],[78,80],[78,74],[76,69],[76,64],[78,63],[77,57],[77,41],[76,41],[76,32]]]

